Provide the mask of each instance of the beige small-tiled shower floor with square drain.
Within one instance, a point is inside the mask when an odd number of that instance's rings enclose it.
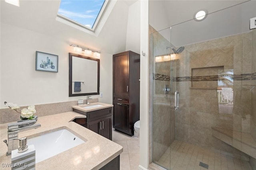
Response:
[[[208,170],[252,170],[249,162],[177,140],[158,163],[168,170],[207,170],[199,164],[207,164]]]

